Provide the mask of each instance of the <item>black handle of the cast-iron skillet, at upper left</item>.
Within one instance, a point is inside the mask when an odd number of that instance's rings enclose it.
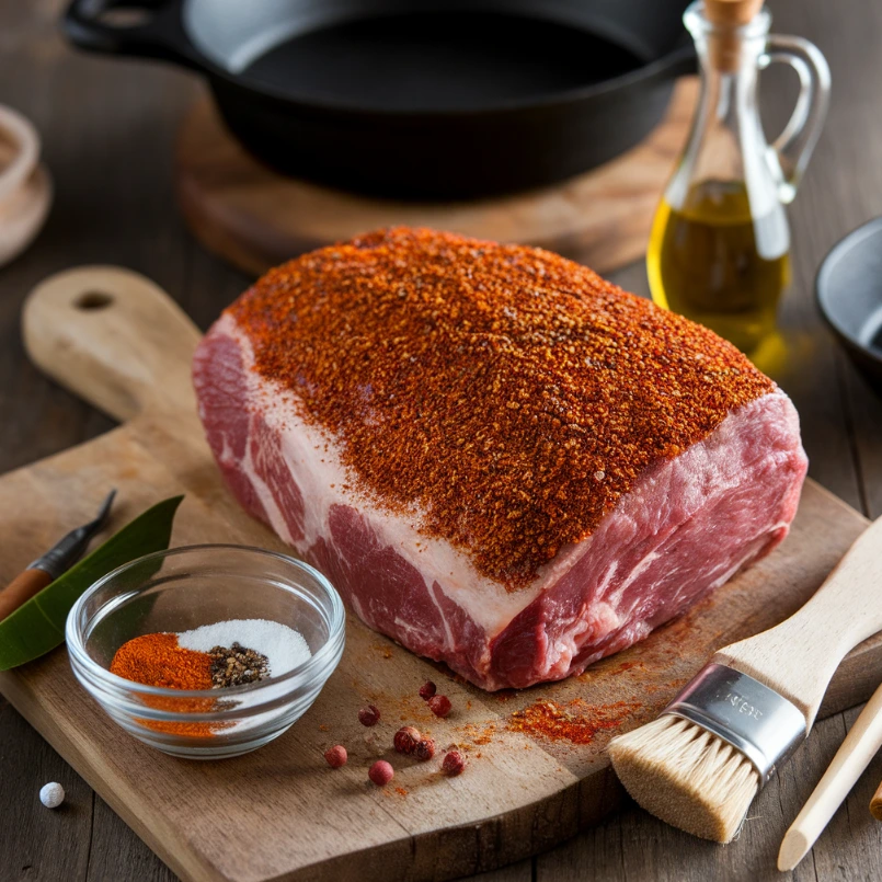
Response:
[[[121,9],[121,16],[136,21],[118,22],[104,13]],[[142,16],[142,20],[141,20]],[[68,39],[81,49],[108,55],[159,58],[184,67],[202,67],[181,19],[180,0],[72,0],[61,19]]]

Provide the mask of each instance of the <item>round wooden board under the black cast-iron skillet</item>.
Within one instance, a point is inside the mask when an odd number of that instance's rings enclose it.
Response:
[[[606,273],[645,252],[697,94],[697,78],[683,78],[664,119],[640,145],[585,174],[512,196],[431,204],[358,196],[279,174],[239,144],[204,95],[177,139],[177,202],[209,251],[254,275],[397,224],[539,245]]]

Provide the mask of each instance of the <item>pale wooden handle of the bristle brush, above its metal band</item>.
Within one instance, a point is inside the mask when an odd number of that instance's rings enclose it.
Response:
[[[775,628],[720,650],[713,661],[793,702],[811,729],[845,654],[882,631],[882,518],[849,549],[805,606]]]

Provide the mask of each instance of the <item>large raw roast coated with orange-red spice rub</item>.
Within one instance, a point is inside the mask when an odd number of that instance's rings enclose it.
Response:
[[[196,351],[230,490],[371,628],[485,689],[582,672],[787,535],[790,399],[546,251],[391,229],[272,270]]]

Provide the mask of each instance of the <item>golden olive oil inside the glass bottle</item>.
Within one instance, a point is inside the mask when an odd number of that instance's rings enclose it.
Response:
[[[777,215],[754,217],[741,181],[695,183],[679,208],[663,201],[646,255],[653,300],[749,353],[775,330],[790,279]]]

